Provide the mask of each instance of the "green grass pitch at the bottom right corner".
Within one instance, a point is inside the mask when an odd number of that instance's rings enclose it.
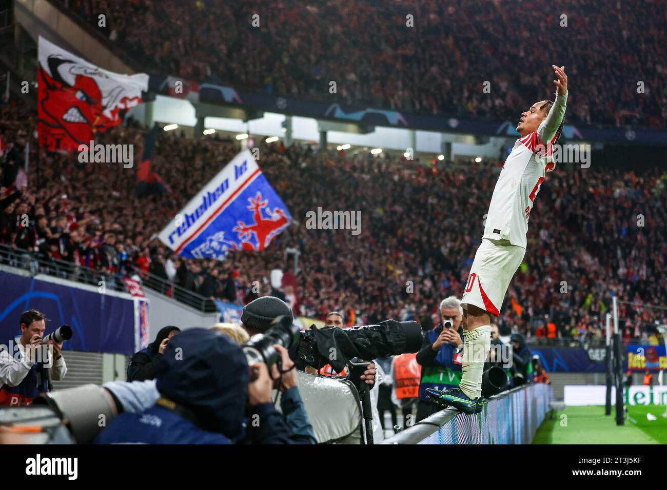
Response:
[[[533,444],[667,444],[665,405],[631,405],[625,425],[617,426],[615,407],[604,415],[603,406],[567,407],[547,417]],[[646,414],[656,420],[646,419]]]

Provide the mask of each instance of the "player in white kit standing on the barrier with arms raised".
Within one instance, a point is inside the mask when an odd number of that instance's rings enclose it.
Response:
[[[556,168],[554,143],[563,128],[568,99],[565,67],[552,65],[556,101],[534,103],[522,113],[521,135],[502,167],[461,300],[465,333],[463,377],[456,389],[427,389],[434,401],[464,413],[482,411],[482,369],[491,346],[490,315],[498,315],[512,276],[526,253],[528,218],[546,172]]]

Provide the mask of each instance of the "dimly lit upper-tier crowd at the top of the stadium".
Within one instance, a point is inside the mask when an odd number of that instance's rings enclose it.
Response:
[[[510,0],[61,3],[142,69],[193,81],[514,121],[523,101],[551,95],[538,57],[558,60],[587,87],[570,96],[570,123],[664,127],[667,119],[667,96],[658,89],[667,74],[661,1],[613,1],[604,9],[596,0],[520,7]],[[564,29],[574,35],[560,35]],[[485,81],[490,93],[482,91]]]

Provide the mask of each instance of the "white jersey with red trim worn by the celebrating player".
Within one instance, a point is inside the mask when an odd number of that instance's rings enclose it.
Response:
[[[492,240],[509,240],[512,245],[526,248],[528,219],[535,197],[540,192],[546,172],[556,168],[552,144],[538,140],[544,134],[542,121],[538,131],[516,140],[500,171],[494,194],[491,197],[484,236]]]

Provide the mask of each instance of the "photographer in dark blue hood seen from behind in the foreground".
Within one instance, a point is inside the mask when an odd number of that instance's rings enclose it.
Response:
[[[164,351],[155,387],[155,405],[115,417],[95,443],[290,443],[271,401],[266,365],[248,366],[241,347],[221,333],[194,328],[177,335]]]

